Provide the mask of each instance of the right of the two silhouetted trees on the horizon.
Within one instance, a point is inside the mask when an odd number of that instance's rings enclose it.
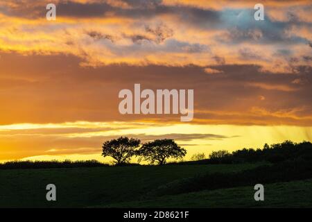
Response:
[[[173,139],[156,139],[153,142],[143,144],[138,152],[139,160],[150,161],[151,164],[157,162],[162,165],[169,157],[180,159],[187,154],[184,148],[178,146]]]

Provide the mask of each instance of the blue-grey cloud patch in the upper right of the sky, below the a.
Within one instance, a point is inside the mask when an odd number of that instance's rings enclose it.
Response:
[[[227,29],[227,35],[218,37],[220,42],[230,44],[253,42],[257,44],[306,44],[308,39],[298,35],[285,35],[294,26],[311,26],[300,22],[294,15],[291,21],[272,21],[266,16],[264,21],[254,19],[254,11],[250,9],[227,9],[220,12],[222,15],[221,27]],[[288,14],[293,15],[293,14]]]

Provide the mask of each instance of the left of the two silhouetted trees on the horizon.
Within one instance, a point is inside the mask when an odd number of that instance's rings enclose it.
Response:
[[[104,142],[103,157],[113,157],[117,165],[128,163],[133,155],[137,154],[137,149],[141,141],[139,139],[129,139],[128,137],[119,137]]]

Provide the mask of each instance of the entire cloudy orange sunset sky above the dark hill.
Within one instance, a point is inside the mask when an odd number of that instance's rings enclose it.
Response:
[[[56,19],[46,19],[55,3]],[[0,162],[90,160],[121,135],[194,153],[312,141],[312,3],[0,1]],[[193,89],[194,117],[120,114],[121,89]]]

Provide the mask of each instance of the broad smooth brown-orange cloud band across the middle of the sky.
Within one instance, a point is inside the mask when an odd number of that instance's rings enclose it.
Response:
[[[272,74],[254,65],[215,65],[207,69],[220,72],[214,75],[198,66],[92,68],[81,67],[80,62],[75,56],[1,53],[0,124],[180,121],[180,115],[119,114],[119,91],[133,89],[135,83],[142,89],[194,89],[192,123],[312,124],[310,67],[301,67],[295,74]],[[19,65],[12,66],[15,63]],[[266,99],[257,99],[259,95]],[[266,110],[305,108],[283,118],[248,114],[254,106]]]

